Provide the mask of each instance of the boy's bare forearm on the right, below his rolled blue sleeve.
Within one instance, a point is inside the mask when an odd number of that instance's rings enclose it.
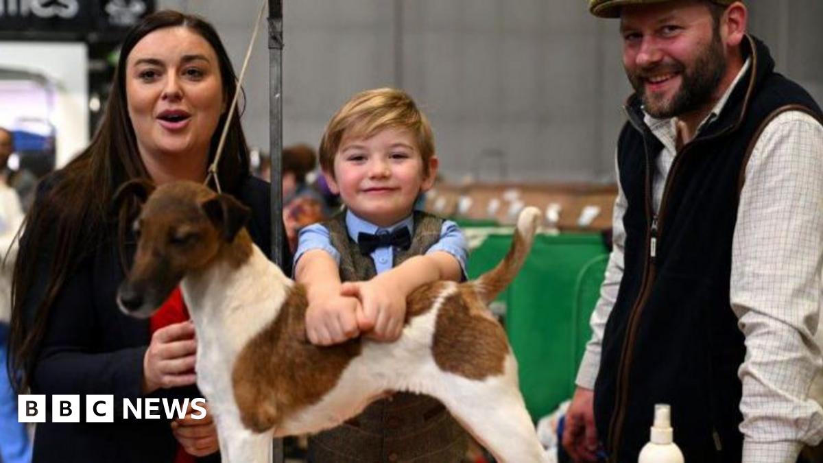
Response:
[[[439,280],[459,281],[462,277],[460,264],[452,255],[435,252],[430,255],[416,255],[397,267],[374,277],[386,288],[397,288],[409,294],[426,283]]]

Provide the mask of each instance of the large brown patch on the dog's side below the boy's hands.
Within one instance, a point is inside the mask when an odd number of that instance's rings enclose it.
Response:
[[[240,418],[263,433],[319,402],[360,355],[360,339],[323,347],[305,342],[305,288],[295,284],[277,319],[247,344],[232,371]]]

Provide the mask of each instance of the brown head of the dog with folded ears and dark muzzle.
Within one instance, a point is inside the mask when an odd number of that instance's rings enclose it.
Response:
[[[189,181],[153,189],[145,181],[123,185],[114,201],[143,203],[134,222],[137,253],[120,284],[120,309],[138,318],[151,316],[186,274],[205,269],[235,241],[249,219],[249,208],[227,194]]]

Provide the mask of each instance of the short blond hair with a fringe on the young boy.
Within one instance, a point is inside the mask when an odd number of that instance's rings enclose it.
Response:
[[[423,173],[429,175],[429,160],[435,155],[429,119],[405,91],[388,87],[361,91],[337,110],[320,139],[320,167],[333,177],[334,157],[344,137],[370,138],[385,129],[412,133],[423,158]]]

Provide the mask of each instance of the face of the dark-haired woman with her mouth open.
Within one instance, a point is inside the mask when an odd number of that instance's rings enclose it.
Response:
[[[167,27],[137,42],[126,61],[126,99],[150,173],[158,165],[206,165],[226,101],[217,55],[201,35]]]

